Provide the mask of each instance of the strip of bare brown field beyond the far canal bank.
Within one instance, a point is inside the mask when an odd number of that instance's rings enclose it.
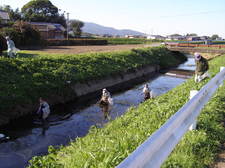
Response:
[[[48,48],[38,50],[44,53],[58,53],[58,54],[80,54],[90,52],[107,52],[107,51],[121,51],[130,50],[133,48],[146,48],[159,46],[160,43],[153,44],[139,44],[139,45],[106,45],[106,46],[49,46]],[[35,52],[35,50],[34,50]]]

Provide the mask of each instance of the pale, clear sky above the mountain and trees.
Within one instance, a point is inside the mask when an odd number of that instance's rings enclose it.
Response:
[[[21,8],[29,0],[0,0]],[[218,34],[225,38],[225,0],[51,0],[70,19],[147,34]]]

